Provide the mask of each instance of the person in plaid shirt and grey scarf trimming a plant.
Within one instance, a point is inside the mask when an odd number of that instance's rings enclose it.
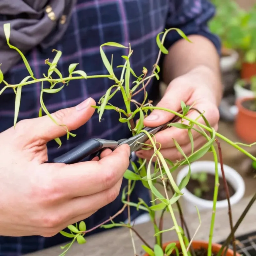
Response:
[[[40,2],[40,3],[39,3]],[[131,66],[137,75],[143,66],[151,70],[158,55],[156,36],[165,28],[179,28],[192,41],[187,42],[175,31],[168,33],[164,46],[169,50],[161,58],[161,80],[168,88],[159,99],[159,84],[148,85],[148,98],[158,101],[159,107],[178,111],[181,100],[204,111],[209,123],[218,128],[218,104],[222,96],[219,71],[220,40],[209,32],[207,24],[215,8],[207,0],[15,0],[0,1],[0,61],[4,79],[18,84],[28,75],[22,59],[9,49],[3,24],[11,24],[10,43],[25,53],[36,78],[47,74],[45,59],[53,59],[62,51],[58,69],[68,76],[68,66],[78,67],[87,75],[108,74],[100,56],[99,46],[116,42],[128,46],[133,54]],[[108,58],[113,54],[113,69],[120,77],[122,55],[127,49],[106,48]],[[119,123],[115,111],[106,111],[98,122],[95,105],[113,85],[108,78],[72,81],[56,94],[44,93],[43,101],[58,123],[67,125],[76,137],[65,138],[63,128],[48,116],[38,117],[41,83],[23,86],[18,123],[13,127],[15,94],[7,89],[0,96],[0,256],[19,256],[25,253],[65,243],[58,232],[85,219],[87,229],[93,228],[123,207],[121,193],[127,185],[122,179],[129,166],[130,149],[123,145],[106,153],[99,161],[70,165],[44,163],[67,152],[89,138],[118,140],[131,133],[126,124]],[[1,83],[1,88],[4,84]],[[48,84],[43,84],[48,88]],[[143,93],[135,100],[142,102]],[[124,108],[118,94],[110,101]],[[133,110],[135,106],[133,106]],[[190,118],[197,118],[192,111]],[[154,110],[144,121],[155,127],[170,120],[170,113]],[[203,122],[202,119],[198,120]],[[193,134],[194,147],[205,143]],[[58,148],[54,138],[61,137]],[[170,160],[179,159],[172,138],[188,154],[191,149],[186,130],[168,128],[156,134],[161,152]],[[152,152],[139,151],[149,159]],[[121,192],[120,192],[121,191]],[[142,198],[150,203],[148,191],[136,183],[131,201]],[[144,212],[131,208],[131,219]],[[115,222],[128,218],[124,211]],[[94,230],[94,233],[103,229]]]

